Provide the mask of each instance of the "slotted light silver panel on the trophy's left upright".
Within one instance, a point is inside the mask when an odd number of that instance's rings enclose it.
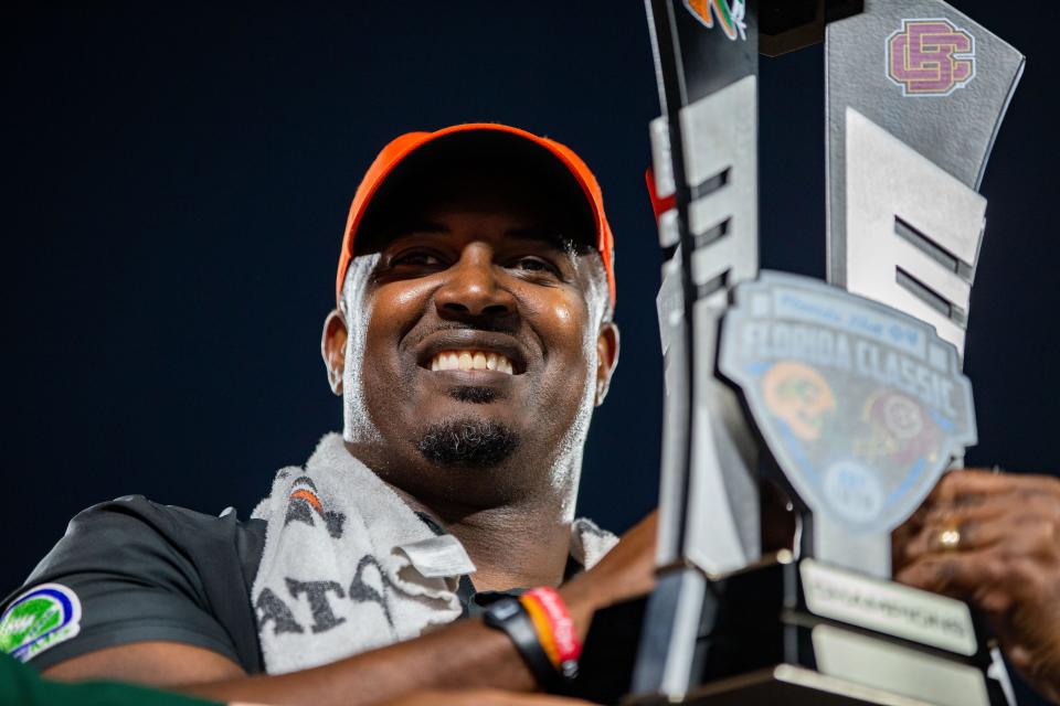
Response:
[[[718,286],[695,308],[698,395],[685,558],[708,574],[723,574],[761,556],[757,448],[735,395],[714,377],[728,290],[759,271],[757,77],[685,107],[680,121],[685,179],[696,196],[689,207],[697,246],[692,278],[701,289]]]

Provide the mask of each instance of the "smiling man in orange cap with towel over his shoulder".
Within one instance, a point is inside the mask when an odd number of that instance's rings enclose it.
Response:
[[[516,693],[569,678],[593,610],[654,568],[654,521],[617,543],[573,513],[618,359],[613,249],[559,142],[398,138],[353,199],[324,328],[342,434],[248,521],[140,496],[80,514],[6,601],[3,649],[222,700],[552,703]]]

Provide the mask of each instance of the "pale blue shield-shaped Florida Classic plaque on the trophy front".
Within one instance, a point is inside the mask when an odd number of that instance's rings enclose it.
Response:
[[[848,531],[889,532],[975,442],[956,349],[926,323],[825,282],[735,289],[719,371],[798,496]]]

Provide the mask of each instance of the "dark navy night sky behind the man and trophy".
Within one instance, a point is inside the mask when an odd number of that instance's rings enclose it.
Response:
[[[142,493],[245,516],[277,468],[339,428],[318,345],[349,200],[391,137],[458,121],[555,137],[600,178],[624,335],[581,509],[623,530],[654,506],[658,252],[643,171],[658,106],[640,2],[92,4],[24,3],[3,23],[0,592],[84,506]],[[954,4],[1028,55],[983,185],[969,462],[1056,472],[1060,17],[1045,1]],[[819,46],[764,60],[764,266],[818,277],[823,90]]]

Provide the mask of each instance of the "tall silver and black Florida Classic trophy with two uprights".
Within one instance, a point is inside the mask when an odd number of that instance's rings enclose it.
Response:
[[[966,605],[890,580],[890,535],[976,442],[976,190],[1024,57],[941,0],[646,7],[667,398],[626,699],[1014,703]],[[828,284],[757,257],[759,53],[822,36]],[[763,479],[793,550],[762,550]]]

